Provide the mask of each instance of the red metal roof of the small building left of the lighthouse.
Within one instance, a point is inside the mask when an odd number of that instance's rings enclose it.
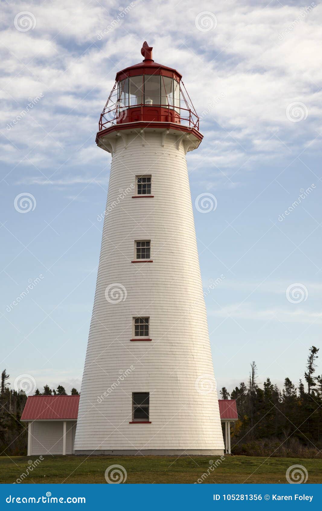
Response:
[[[77,419],[79,396],[29,396],[21,420]]]

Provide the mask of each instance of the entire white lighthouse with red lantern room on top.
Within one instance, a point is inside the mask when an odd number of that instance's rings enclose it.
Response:
[[[223,454],[186,153],[203,136],[182,76],[116,75],[98,147],[112,154],[76,454]]]

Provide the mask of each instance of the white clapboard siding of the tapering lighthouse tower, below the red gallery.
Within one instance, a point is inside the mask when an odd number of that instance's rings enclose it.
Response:
[[[144,146],[140,136],[128,135],[125,149],[120,138],[111,164],[75,451],[220,454],[224,442],[184,147],[177,148],[175,135],[166,136],[162,147],[158,130],[145,134]],[[152,175],[154,198],[132,198],[130,187],[142,174]],[[151,240],[153,263],[131,263],[135,240]],[[117,304],[105,297],[113,283],[127,292]],[[130,342],[135,316],[150,317],[151,342]],[[212,390],[199,392],[209,379]],[[152,424],[129,424],[134,391],[150,392]]]

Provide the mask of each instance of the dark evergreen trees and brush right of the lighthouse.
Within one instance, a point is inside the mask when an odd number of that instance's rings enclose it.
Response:
[[[257,366],[251,363],[247,383],[221,399],[235,399],[238,421],[231,428],[232,454],[322,457],[322,375],[316,375],[319,349],[311,346],[304,381],[285,378],[280,389],[267,378],[258,384]]]

